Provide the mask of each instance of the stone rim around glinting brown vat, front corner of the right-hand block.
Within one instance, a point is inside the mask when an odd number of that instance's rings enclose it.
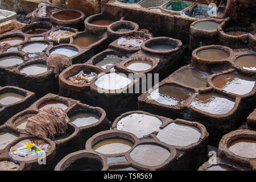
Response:
[[[213,88],[210,88],[209,90],[203,90],[202,92],[199,91],[198,94],[204,94],[204,93],[216,93],[216,94],[218,94],[220,96],[228,97],[228,98],[230,98],[230,100],[232,100],[234,102],[234,106],[226,114],[212,114],[212,113],[208,113],[207,111],[203,111],[203,110],[197,109],[196,107],[193,107],[191,105],[193,100],[195,100],[195,98],[197,96],[197,94],[195,94],[194,96],[192,96],[192,99],[189,101],[188,108],[191,108],[196,113],[207,115],[208,117],[217,118],[218,121],[220,121],[220,122],[222,122],[221,119],[232,118],[233,115],[236,114],[236,111],[238,110],[238,108],[240,106],[241,96],[230,97],[229,95],[227,95],[225,93],[222,93],[222,92],[214,92]]]

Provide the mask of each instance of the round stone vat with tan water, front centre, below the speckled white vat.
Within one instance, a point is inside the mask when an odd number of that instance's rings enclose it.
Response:
[[[101,131],[87,140],[85,149],[107,157],[120,156],[129,152],[137,140],[135,135],[125,131]]]

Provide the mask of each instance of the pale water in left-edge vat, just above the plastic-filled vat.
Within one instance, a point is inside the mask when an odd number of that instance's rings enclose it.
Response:
[[[19,135],[18,132],[8,129],[7,125],[0,126],[0,154],[2,154],[6,146],[17,139]]]

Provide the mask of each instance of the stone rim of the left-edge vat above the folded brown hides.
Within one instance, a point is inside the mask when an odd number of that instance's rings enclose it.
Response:
[[[19,96],[22,96],[22,100],[19,100],[13,104],[7,104],[7,105],[0,104],[0,106],[2,107],[0,111],[2,124],[7,119],[12,117],[14,114],[18,113],[19,111],[22,111],[23,109],[26,109],[29,105],[32,104],[32,102],[35,101],[35,93],[30,92],[28,90],[21,89],[21,88],[17,88],[15,86],[4,86],[0,88],[1,95],[6,93],[19,94]]]

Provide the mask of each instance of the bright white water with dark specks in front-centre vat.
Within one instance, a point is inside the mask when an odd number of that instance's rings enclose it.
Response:
[[[120,119],[117,130],[127,131],[142,138],[144,135],[159,131],[161,125],[162,121],[154,116],[134,113]]]

